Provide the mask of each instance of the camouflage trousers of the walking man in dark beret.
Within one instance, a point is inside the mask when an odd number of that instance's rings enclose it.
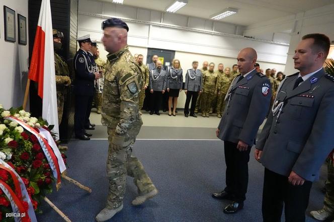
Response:
[[[109,180],[108,208],[118,208],[123,203],[126,186],[126,176],[134,178],[139,195],[155,189],[151,179],[147,176],[140,161],[132,156],[132,143],[117,152],[111,150],[112,137],[115,129],[108,127],[108,160],[107,176]]]

